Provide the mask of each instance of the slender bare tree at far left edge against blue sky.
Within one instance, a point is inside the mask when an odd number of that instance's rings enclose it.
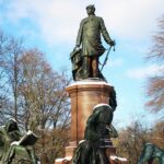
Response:
[[[19,60],[23,52],[21,39],[15,39],[12,36],[0,32],[0,78],[1,93],[3,97],[12,103],[11,109],[5,109],[5,115],[9,115],[17,120],[19,110]],[[2,94],[1,94],[2,95]],[[8,110],[8,112],[7,112]]]

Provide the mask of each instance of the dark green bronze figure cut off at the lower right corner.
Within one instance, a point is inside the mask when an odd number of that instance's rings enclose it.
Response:
[[[157,160],[159,164],[164,164],[164,150],[157,148],[153,143],[145,143],[138,164],[152,164],[155,159]]]

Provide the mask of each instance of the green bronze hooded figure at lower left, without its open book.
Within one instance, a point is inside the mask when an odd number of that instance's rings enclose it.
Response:
[[[12,144],[22,137],[14,119],[10,119],[0,128],[0,164],[37,164],[32,145]]]

